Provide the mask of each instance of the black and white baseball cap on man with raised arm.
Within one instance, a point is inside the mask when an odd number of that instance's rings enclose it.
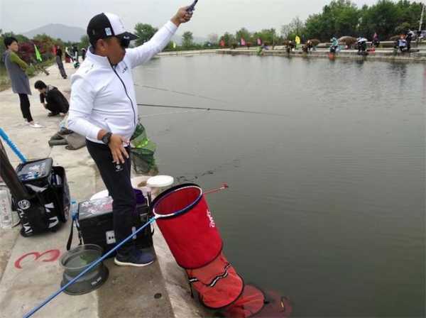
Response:
[[[138,38],[137,35],[126,31],[123,22],[114,13],[99,13],[94,16],[87,26],[87,36],[92,45],[100,38],[110,38],[111,36],[127,43]]]

